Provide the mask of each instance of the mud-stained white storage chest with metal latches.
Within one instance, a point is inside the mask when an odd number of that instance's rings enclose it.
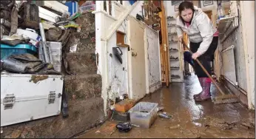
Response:
[[[61,113],[62,75],[1,72],[1,126]]]

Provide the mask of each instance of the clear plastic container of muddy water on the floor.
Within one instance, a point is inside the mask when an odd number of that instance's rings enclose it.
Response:
[[[149,129],[158,117],[158,104],[139,102],[129,109],[129,117],[132,124]]]

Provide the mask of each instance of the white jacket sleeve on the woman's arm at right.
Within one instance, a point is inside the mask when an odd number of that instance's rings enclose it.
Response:
[[[203,53],[208,50],[210,44],[212,43],[214,34],[212,30],[212,22],[209,20],[206,14],[203,14],[202,18],[198,18],[198,30],[203,38],[203,41],[198,48],[198,52],[203,55]]]

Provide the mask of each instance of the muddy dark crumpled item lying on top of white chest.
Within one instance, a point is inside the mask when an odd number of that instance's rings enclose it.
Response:
[[[10,55],[3,61],[2,69],[7,72],[18,72],[38,75],[60,75],[53,68],[53,64],[43,63],[41,60],[36,58],[34,55],[29,53],[21,55]]]

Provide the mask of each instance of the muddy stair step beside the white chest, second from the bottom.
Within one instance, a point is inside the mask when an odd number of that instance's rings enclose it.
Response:
[[[67,75],[64,84],[69,100],[101,97],[101,75]]]

